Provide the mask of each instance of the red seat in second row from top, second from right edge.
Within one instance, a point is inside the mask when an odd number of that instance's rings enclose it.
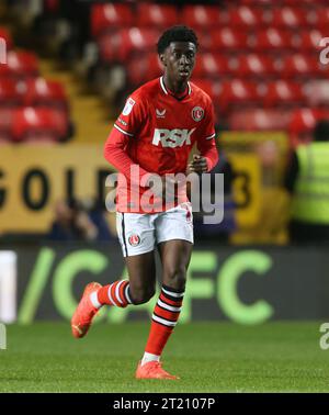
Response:
[[[252,47],[259,52],[282,52],[298,47],[297,42],[293,32],[269,27],[256,33]]]

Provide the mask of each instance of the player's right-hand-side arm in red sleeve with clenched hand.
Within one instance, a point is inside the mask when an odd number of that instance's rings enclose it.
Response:
[[[205,113],[203,125],[197,132],[196,146],[198,155],[193,155],[189,164],[189,170],[197,173],[211,171],[218,161],[218,152],[216,148],[216,134],[214,125],[214,106],[211,103]]]

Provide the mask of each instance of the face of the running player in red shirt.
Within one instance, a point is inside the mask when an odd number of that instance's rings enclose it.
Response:
[[[191,42],[171,42],[160,56],[170,79],[186,82],[195,64],[196,47]]]

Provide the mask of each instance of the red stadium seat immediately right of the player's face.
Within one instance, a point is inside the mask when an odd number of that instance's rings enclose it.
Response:
[[[200,54],[193,70],[195,78],[218,78],[223,75],[230,75],[229,58],[219,54]]]

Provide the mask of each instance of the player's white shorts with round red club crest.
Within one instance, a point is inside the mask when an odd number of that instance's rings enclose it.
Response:
[[[116,229],[124,257],[149,253],[164,240],[193,244],[192,205],[182,203],[151,214],[116,212]]]

